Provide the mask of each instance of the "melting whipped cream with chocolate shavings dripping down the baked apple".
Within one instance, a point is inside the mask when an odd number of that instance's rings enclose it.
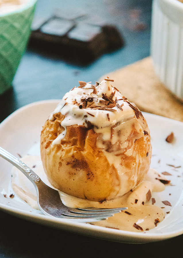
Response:
[[[67,126],[76,124],[91,127],[99,135],[97,147],[103,150],[109,163],[114,164],[118,173],[124,173],[120,166],[121,157],[117,155],[132,155],[133,145],[129,141],[132,130],[135,130],[135,137],[139,139],[144,136],[142,126],[145,125],[142,113],[135,104],[122,96],[118,89],[111,86],[111,81],[113,80],[108,77],[96,85],[80,81],[79,87],[74,87],[64,95],[49,116],[49,120],[53,120],[54,114],[58,112],[65,116],[61,122],[64,131],[57,136],[52,145],[61,143],[66,135]],[[145,130],[149,133],[148,127]]]

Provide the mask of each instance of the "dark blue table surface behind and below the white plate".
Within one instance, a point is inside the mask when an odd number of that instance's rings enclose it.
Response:
[[[37,16],[48,17],[56,8],[82,9],[86,15],[115,24],[124,38],[119,50],[103,54],[88,66],[77,66],[47,53],[27,49],[13,81],[0,96],[0,122],[28,103],[58,99],[78,81],[102,75],[150,55],[151,0],[38,0]],[[92,239],[0,212],[0,257],[182,257],[182,236],[142,245]]]

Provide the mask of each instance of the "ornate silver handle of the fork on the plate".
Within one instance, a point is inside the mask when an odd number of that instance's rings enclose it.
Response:
[[[14,157],[11,153],[8,151],[4,150],[3,148],[0,147],[0,157],[3,159],[9,161],[11,164],[13,164],[16,168],[18,168],[26,177],[34,184],[36,190],[37,190],[37,185],[36,183],[42,182],[40,177],[32,171],[30,167],[28,167],[24,162],[22,162],[20,159]]]

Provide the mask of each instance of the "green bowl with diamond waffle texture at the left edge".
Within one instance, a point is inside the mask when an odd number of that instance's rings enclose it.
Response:
[[[11,87],[31,32],[36,0],[0,15],[0,94]]]

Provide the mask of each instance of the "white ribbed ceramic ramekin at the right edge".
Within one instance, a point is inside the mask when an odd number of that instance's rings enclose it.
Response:
[[[183,3],[154,0],[151,56],[162,83],[183,100]]]

